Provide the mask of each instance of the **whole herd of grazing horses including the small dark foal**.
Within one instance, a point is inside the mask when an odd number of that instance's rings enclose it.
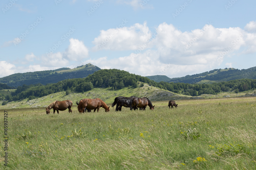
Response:
[[[59,114],[59,110],[64,111],[66,109],[68,109],[68,112],[70,113],[72,112],[71,110],[72,104],[73,102],[71,100],[54,101],[51,104],[49,104],[47,108],[45,108],[46,114],[50,113],[50,109],[53,109],[54,114],[56,110],[57,110],[57,113]],[[110,106],[108,107],[107,104],[99,98],[82,99],[79,102],[77,101],[76,104],[78,105],[77,109],[80,113],[84,113],[86,111],[91,112],[91,110],[94,110],[95,112],[96,109],[97,109],[97,112],[99,112],[100,107],[104,108],[105,112],[110,111],[109,109]],[[130,110],[136,110],[138,108],[140,108],[140,110],[145,110],[147,106],[149,106],[151,110],[154,110],[154,107],[155,107],[147,97],[140,98],[135,96],[116,97],[114,102],[112,103],[112,107],[114,107],[115,105],[116,105],[116,108],[115,108],[116,111],[122,111],[122,107],[130,108]],[[178,104],[176,104],[174,100],[170,100],[168,103],[168,107],[172,109],[173,106],[177,108]]]

